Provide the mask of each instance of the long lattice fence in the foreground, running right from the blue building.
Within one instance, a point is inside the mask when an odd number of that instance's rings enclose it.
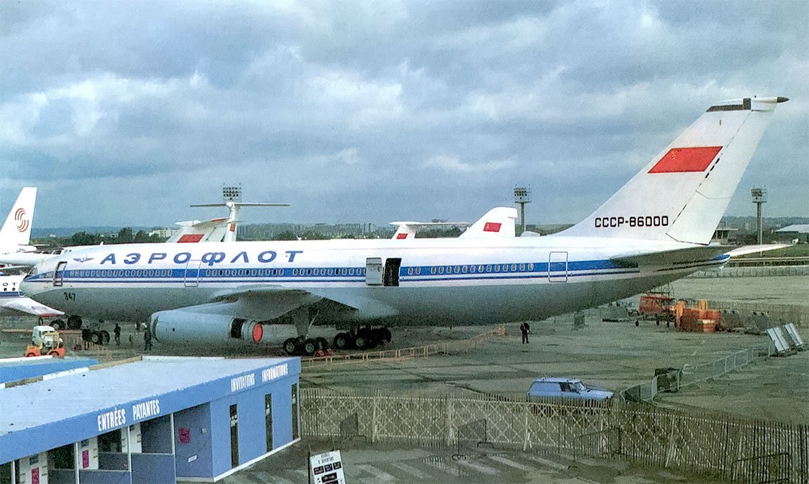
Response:
[[[736,482],[807,482],[807,426],[649,405],[302,390],[303,435],[570,452]]]

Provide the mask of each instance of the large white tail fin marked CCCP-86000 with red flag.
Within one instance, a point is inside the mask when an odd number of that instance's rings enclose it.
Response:
[[[708,244],[784,97],[711,106],[581,223],[556,236]]]

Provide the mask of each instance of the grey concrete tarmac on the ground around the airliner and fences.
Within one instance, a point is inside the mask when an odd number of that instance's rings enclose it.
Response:
[[[672,284],[680,298],[809,304],[809,277],[684,279]],[[4,325],[30,328],[34,318],[4,319]],[[598,311],[587,325],[573,328],[572,316],[532,322],[530,342],[520,342],[519,323],[506,335],[489,338],[474,350],[430,358],[352,363],[308,368],[302,388],[419,393],[499,393],[522,397],[539,376],[574,376],[613,391],[651,380],[657,367],[709,363],[769,338],[739,333],[681,333],[654,321],[603,322]],[[108,331],[112,332],[112,322]],[[142,333],[122,325],[124,344],[113,358],[141,353]],[[471,338],[491,327],[394,329],[392,347]],[[809,341],[807,329],[801,329]],[[129,346],[129,335],[133,345]],[[30,335],[0,334],[0,355],[21,355]],[[152,354],[198,354],[155,346]],[[276,348],[227,350],[224,355],[279,355]],[[71,355],[81,356],[80,352]],[[809,424],[809,351],[752,363],[717,380],[660,393],[657,405],[705,413],[725,413],[777,422]],[[306,452],[340,448],[347,482],[715,482],[701,476],[646,469],[626,462],[565,454],[511,452],[493,448],[420,448],[305,439],[235,473],[222,482],[307,482]]]

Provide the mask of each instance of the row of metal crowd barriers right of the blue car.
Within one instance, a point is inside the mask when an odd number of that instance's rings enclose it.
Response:
[[[686,363],[682,368],[654,376],[649,382],[621,390],[619,395],[625,401],[652,401],[659,391],[677,391],[680,388],[697,384],[701,381],[715,380],[756,360],[775,355],[776,352],[773,342],[769,342],[736,351],[731,355],[715,359],[709,363],[697,365]]]

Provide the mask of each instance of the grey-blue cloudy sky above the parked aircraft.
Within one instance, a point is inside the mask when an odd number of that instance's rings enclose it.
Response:
[[[35,226],[574,223],[710,104],[787,96],[727,214],[809,215],[809,2],[0,2],[0,210]],[[2,215],[3,217],[5,215]]]

